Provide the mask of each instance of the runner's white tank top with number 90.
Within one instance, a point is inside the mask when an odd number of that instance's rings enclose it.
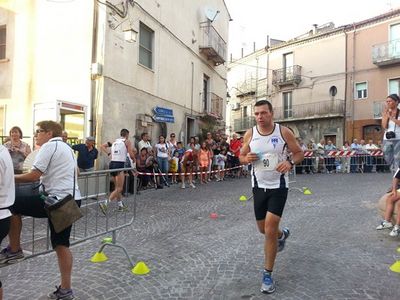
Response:
[[[275,123],[274,130],[269,135],[260,134],[257,126],[252,130],[250,151],[257,153],[260,158],[253,162],[252,186],[263,189],[288,188],[288,173],[282,174],[275,170],[277,164],[287,160],[288,157],[280,125]]]

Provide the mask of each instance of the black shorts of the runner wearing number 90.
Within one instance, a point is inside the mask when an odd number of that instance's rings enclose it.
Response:
[[[282,217],[287,194],[287,188],[262,189],[254,187],[254,213],[256,215],[256,220],[264,220],[267,212]]]

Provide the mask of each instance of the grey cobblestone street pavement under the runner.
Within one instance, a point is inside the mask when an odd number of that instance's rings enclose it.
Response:
[[[72,248],[73,287],[79,299],[399,299],[400,238],[376,231],[378,198],[390,174],[299,175],[282,225],[291,229],[276,261],[277,290],[259,292],[263,236],[257,232],[249,179],[177,185],[138,197],[137,219],[118,233],[134,262],[151,272],[136,276],[123,252],[93,264],[101,238]],[[310,187],[303,195],[295,187]],[[217,219],[210,213],[216,212]],[[4,299],[46,299],[59,283],[54,253],[0,269]]]

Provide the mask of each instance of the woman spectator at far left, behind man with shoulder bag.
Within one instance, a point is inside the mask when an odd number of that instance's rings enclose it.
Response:
[[[4,144],[4,147],[10,152],[14,174],[22,174],[25,158],[31,153],[31,147],[21,139],[21,128],[14,126],[10,130],[10,140]]]

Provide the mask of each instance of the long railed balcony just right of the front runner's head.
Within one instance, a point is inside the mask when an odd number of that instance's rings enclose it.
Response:
[[[298,121],[344,117],[345,111],[344,100],[321,101],[293,105],[290,108],[275,107],[274,119],[276,121]]]

